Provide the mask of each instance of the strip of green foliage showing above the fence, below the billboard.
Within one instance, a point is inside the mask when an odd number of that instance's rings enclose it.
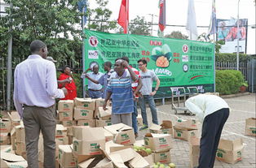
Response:
[[[251,58],[247,54],[239,54],[239,62],[247,62]],[[236,54],[219,53],[215,54],[216,62],[236,62]]]

